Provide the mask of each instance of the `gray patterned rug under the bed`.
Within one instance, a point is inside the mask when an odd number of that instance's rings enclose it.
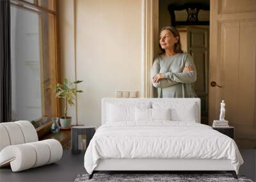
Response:
[[[244,176],[239,176],[238,179],[234,179],[232,174],[94,174],[92,179],[88,179],[89,174],[79,174],[75,179],[75,182],[86,181],[136,181],[136,182],[150,182],[150,181],[175,181],[175,182],[187,182],[187,181],[243,181],[253,182],[251,179],[246,179]]]

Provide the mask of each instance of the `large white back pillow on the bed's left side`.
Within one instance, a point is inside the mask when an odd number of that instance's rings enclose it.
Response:
[[[107,107],[107,122],[135,121],[135,107],[150,108],[150,103],[114,102]]]

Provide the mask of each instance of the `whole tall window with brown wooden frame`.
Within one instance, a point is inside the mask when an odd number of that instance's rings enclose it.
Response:
[[[58,116],[54,0],[11,0],[12,119]]]

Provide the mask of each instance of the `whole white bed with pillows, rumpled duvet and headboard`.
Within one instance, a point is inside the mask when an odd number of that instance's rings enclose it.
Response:
[[[227,171],[243,158],[230,137],[200,124],[199,98],[103,98],[102,126],[84,155],[99,171]]]

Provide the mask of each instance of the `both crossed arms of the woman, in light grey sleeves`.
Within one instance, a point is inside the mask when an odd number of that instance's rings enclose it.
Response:
[[[185,68],[182,73],[160,72],[159,59],[156,59],[152,65],[151,78],[154,87],[170,87],[179,83],[192,83],[196,81],[196,70],[193,59],[190,56],[185,57]]]

